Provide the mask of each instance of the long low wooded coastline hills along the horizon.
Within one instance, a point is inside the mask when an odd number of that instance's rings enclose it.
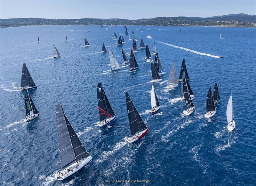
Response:
[[[199,17],[157,17],[137,20],[129,19],[44,19],[44,18],[12,18],[0,19],[0,27],[28,26],[28,25],[148,25],[148,26],[230,26],[230,27],[255,27],[256,16],[247,14],[229,14],[213,16],[210,18]]]

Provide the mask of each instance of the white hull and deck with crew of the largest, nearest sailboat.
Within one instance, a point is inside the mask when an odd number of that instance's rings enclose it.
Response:
[[[54,175],[54,177],[57,180],[64,180],[65,178],[67,178],[68,176],[73,175],[74,173],[76,173],[78,170],[80,170],[81,168],[83,168],[89,161],[92,160],[92,156],[88,156],[85,159],[82,159],[80,161],[78,161],[77,163],[73,163],[72,165],[68,166],[67,168],[63,169],[60,171],[60,173],[57,173]],[[76,165],[78,165],[78,168],[76,168]],[[69,171],[68,171],[69,170]]]

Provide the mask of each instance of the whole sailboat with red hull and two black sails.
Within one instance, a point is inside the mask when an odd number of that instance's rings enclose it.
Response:
[[[142,138],[148,132],[148,127],[145,125],[142,118],[140,117],[140,114],[137,111],[136,107],[134,106],[128,92],[125,92],[125,98],[128,111],[129,125],[132,134],[132,137],[128,138],[127,141],[129,143],[132,143]]]

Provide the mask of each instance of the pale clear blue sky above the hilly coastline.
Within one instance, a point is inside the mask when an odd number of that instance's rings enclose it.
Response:
[[[256,15],[256,0],[0,0],[0,18],[211,17]]]

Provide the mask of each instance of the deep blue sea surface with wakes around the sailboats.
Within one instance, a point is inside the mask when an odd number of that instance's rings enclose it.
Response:
[[[0,29],[0,185],[256,184],[256,29],[149,28],[127,26],[129,35],[134,30],[139,39],[138,47],[143,38],[152,53],[156,43],[165,72],[163,81],[154,83],[161,105],[154,116],[149,113],[152,76],[145,49],[135,54],[139,70],[130,72],[129,66],[122,64],[121,49],[129,59],[132,40],[122,34],[125,43],[118,47],[112,38],[114,31],[124,33],[124,26],[108,27],[108,31],[92,25]],[[90,47],[84,47],[84,37]],[[109,54],[101,53],[102,43],[107,50],[112,49],[121,70],[110,71]],[[52,58],[52,44],[59,50],[60,58]],[[172,62],[175,61],[179,76],[183,59],[195,94],[196,110],[189,116],[184,115],[186,106],[179,99],[181,85],[166,90]],[[38,118],[29,122],[23,121],[25,91],[18,90],[23,63],[37,85],[29,92],[40,112]],[[95,126],[100,120],[98,82],[102,82],[117,115],[108,129]],[[221,102],[216,104],[216,115],[207,119],[206,96],[215,82]],[[126,91],[149,127],[149,132],[132,144],[125,141],[131,136]],[[230,132],[226,107],[231,93],[236,128]],[[53,177],[60,170],[55,119],[58,103],[92,154],[92,161],[81,172],[64,181]],[[116,180],[125,182],[109,183]]]

